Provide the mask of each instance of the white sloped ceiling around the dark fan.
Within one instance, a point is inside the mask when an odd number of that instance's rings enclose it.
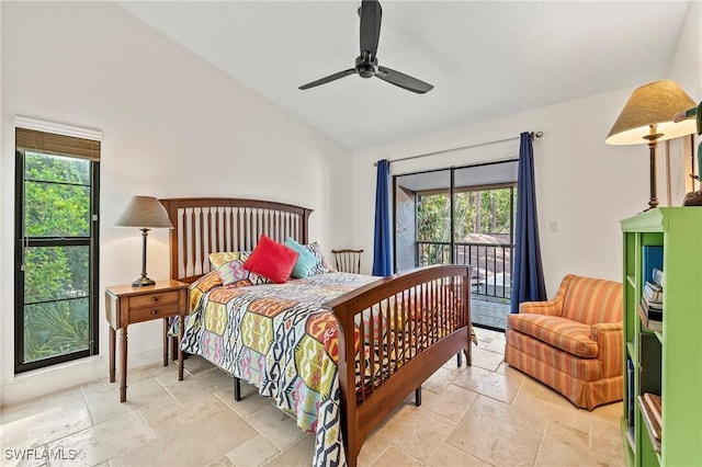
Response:
[[[668,78],[688,1],[382,1],[381,65],[350,76],[360,1],[118,2],[352,151]]]

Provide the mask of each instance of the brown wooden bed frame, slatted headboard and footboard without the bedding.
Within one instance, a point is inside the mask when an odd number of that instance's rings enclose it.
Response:
[[[244,198],[168,198],[161,203],[174,226],[169,242],[170,275],[182,282],[192,283],[211,271],[208,253],[253,250],[263,234],[279,242],[288,236],[309,242],[312,209]],[[469,266],[430,266],[381,278],[324,305],[339,326],[340,421],[348,465],[356,465],[371,430],[453,355],[465,353],[471,364],[469,291]],[[375,335],[364,326],[359,331],[358,315],[364,310],[382,307],[381,318],[395,326],[401,304],[409,301],[416,307],[415,315],[394,332]],[[380,365],[373,362],[378,350],[378,360],[393,355],[393,363],[367,372]],[[362,384],[359,368],[366,375]]]

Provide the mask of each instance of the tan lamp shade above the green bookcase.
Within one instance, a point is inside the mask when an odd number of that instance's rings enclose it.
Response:
[[[650,125],[656,125],[658,141],[691,135],[694,119],[673,123],[672,116],[695,106],[694,101],[672,80],[654,81],[636,88],[629,98],[614,126],[607,135],[608,145],[637,145],[648,143]]]

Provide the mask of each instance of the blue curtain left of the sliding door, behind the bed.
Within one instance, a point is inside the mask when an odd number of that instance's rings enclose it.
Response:
[[[373,246],[373,275],[393,274],[393,238],[390,230],[390,163],[377,161],[375,185],[375,236]]]

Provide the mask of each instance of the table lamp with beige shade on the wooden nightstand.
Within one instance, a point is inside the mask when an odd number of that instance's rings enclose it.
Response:
[[[141,276],[132,283],[134,287],[154,285],[156,282],[146,275],[146,238],[154,228],[172,229],[163,205],[152,196],[133,196],[122,215],[114,223],[115,227],[138,227],[141,230]]]

